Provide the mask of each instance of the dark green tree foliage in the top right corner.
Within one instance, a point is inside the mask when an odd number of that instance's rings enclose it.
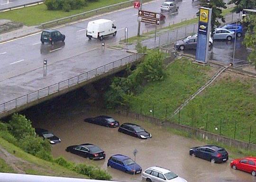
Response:
[[[228,4],[235,4],[236,6],[232,12],[239,13],[243,9],[252,9],[256,6],[256,0],[230,0]]]

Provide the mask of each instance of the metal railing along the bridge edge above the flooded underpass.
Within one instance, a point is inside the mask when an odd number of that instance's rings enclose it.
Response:
[[[58,82],[54,85],[50,85],[48,87],[41,88],[37,91],[28,93],[27,95],[23,95],[16,99],[13,99],[13,100],[10,100],[3,104],[0,104],[0,113],[4,113],[11,109],[17,108],[21,105],[24,105],[24,104],[30,103],[32,101],[38,100],[40,98],[43,98],[47,95],[51,95],[53,93],[64,90],[68,87],[72,87],[77,84],[80,84],[83,81],[89,80],[91,78],[95,78],[103,73],[111,71],[112,69],[119,68],[119,67],[129,64],[131,62],[137,61],[138,59],[142,58],[142,56],[143,56],[143,54],[129,55],[129,56],[119,59],[117,61],[113,61],[113,62],[105,64],[101,67],[98,67],[96,69],[87,71],[86,73],[82,73],[78,76],[66,79],[66,80]]]

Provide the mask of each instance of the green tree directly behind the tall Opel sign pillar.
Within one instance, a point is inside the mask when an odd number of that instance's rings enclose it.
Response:
[[[200,0],[201,7],[212,9],[211,13],[211,33],[214,31],[215,26],[220,26],[219,19],[225,23],[225,18],[222,15],[222,10],[226,9],[226,3],[223,0]],[[197,12],[199,16],[199,12]]]

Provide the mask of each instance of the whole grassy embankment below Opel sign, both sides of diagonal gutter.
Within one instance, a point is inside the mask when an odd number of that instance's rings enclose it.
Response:
[[[169,121],[256,143],[256,79],[224,73],[183,108],[180,118],[179,114],[172,117],[174,110],[206,83],[211,69],[177,60],[167,67],[164,81],[147,84],[137,99],[129,99],[130,107],[137,113],[163,120],[167,116]]]

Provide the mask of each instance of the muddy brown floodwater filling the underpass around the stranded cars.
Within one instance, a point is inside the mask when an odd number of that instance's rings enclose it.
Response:
[[[231,169],[231,159],[224,164],[212,164],[189,155],[190,147],[206,143],[174,135],[150,122],[134,121],[121,114],[101,110],[96,101],[88,99],[88,95],[84,96],[83,93],[83,90],[76,91],[24,111],[34,127],[50,130],[61,138],[61,143],[52,146],[54,157],[63,156],[76,163],[98,165],[106,169],[113,180],[140,182],[141,174],[133,176],[107,167],[108,159],[114,154],[123,154],[134,159],[133,150],[136,148],[136,162],[143,170],[150,166],[162,166],[188,182],[256,182],[256,177],[250,173]],[[120,123],[137,123],[151,132],[152,138],[137,139],[118,132],[118,128],[111,129],[83,121],[98,115],[110,115]],[[106,153],[106,159],[92,161],[65,151],[68,146],[82,143],[101,147]]]

